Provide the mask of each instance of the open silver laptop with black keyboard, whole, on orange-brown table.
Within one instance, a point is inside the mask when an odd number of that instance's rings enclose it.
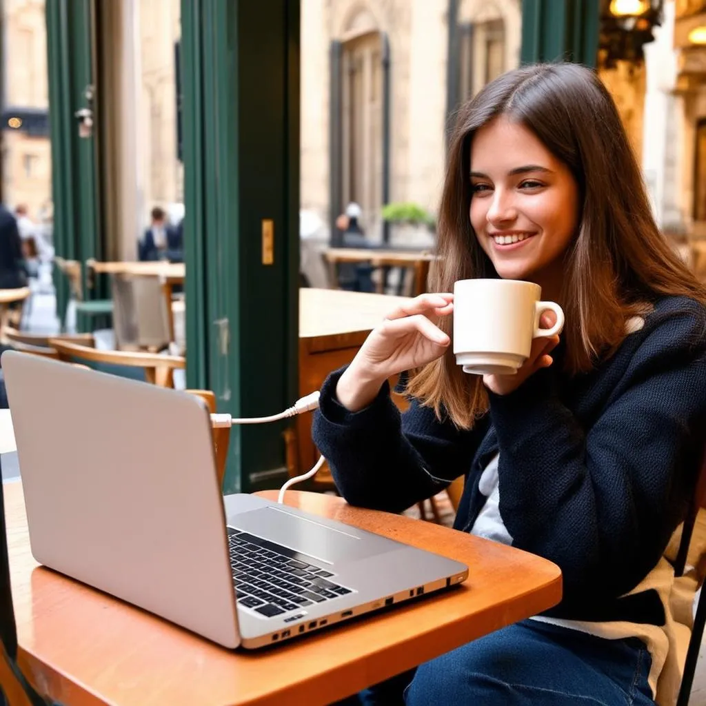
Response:
[[[2,356],[32,554],[225,647],[456,585],[457,561],[247,494],[222,497],[197,397]]]

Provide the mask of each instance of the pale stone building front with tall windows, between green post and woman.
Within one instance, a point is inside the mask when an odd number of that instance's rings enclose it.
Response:
[[[450,89],[462,100],[520,61],[520,1],[462,0],[454,25],[458,52],[450,67],[450,5],[448,0],[302,0],[301,207],[323,222],[336,215],[330,205],[333,176],[341,189],[338,208],[357,201],[366,230],[373,239],[381,236],[386,69],[388,202],[436,211],[453,109]],[[332,71],[336,52],[340,71]],[[332,88],[340,93],[338,109]],[[336,140],[340,174],[332,175]]]

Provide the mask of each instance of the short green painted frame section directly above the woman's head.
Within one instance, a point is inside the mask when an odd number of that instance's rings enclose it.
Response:
[[[522,0],[522,64],[596,66],[599,0]]]

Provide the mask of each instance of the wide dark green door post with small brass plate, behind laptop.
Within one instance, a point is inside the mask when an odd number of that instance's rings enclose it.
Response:
[[[182,0],[181,28],[187,385],[274,414],[297,398],[299,0]],[[284,430],[234,427],[225,491],[280,483]]]

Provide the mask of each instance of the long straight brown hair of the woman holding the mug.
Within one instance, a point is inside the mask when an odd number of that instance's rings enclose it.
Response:
[[[500,115],[530,129],[570,169],[580,193],[577,234],[565,253],[561,304],[566,313],[565,370],[589,371],[614,352],[626,321],[676,294],[706,304],[706,290],[682,263],[652,217],[638,163],[611,95],[577,64],[509,71],[469,100],[450,139],[438,215],[438,263],[429,291],[453,292],[456,280],[498,277],[471,227],[470,148],[474,133]],[[452,321],[439,322],[452,335]],[[480,376],[457,366],[453,347],[414,371],[407,392],[438,417],[470,429],[488,408]]]

